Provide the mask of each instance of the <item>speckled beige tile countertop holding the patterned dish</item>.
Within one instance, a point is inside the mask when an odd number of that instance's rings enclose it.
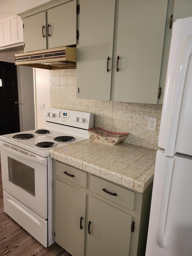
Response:
[[[153,181],[156,150],[91,138],[50,150],[50,157],[139,193]]]

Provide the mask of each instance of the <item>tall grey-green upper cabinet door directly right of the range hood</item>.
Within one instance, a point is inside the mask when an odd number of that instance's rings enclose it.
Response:
[[[114,20],[115,0],[80,1],[78,98],[110,100]],[[110,60],[107,72],[108,57]]]

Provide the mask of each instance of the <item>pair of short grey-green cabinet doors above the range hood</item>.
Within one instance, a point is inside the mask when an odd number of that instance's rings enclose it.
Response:
[[[24,51],[76,44],[76,0],[23,18]]]

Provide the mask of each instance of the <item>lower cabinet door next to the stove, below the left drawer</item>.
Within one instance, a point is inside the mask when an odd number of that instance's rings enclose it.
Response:
[[[84,192],[55,180],[55,242],[72,255],[84,255],[85,203]]]

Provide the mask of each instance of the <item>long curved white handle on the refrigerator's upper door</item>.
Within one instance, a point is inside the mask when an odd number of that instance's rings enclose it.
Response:
[[[182,95],[190,55],[192,53],[192,35],[188,35],[183,43],[182,50],[177,65],[176,76],[173,86],[173,96],[170,108],[170,120],[168,127],[167,143],[165,146],[165,155],[173,156],[175,154],[176,134],[178,128],[180,108],[182,104]]]

